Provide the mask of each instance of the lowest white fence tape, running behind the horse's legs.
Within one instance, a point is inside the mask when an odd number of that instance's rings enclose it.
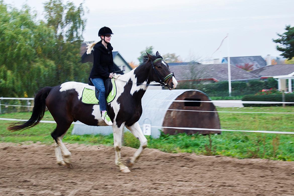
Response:
[[[27,121],[23,119],[12,119],[12,118],[0,118],[0,120],[10,120],[10,121]],[[41,120],[41,123],[56,123],[55,121]],[[72,124],[84,125],[84,123],[74,122]],[[190,128],[190,127],[162,127],[162,126],[152,126],[155,128],[170,128],[170,129],[186,129],[186,130],[208,130],[208,131],[239,131],[239,132],[254,132],[254,133],[276,133],[276,134],[294,134],[294,132],[286,131],[253,131],[253,130],[230,130],[230,129],[207,129],[207,128]]]

